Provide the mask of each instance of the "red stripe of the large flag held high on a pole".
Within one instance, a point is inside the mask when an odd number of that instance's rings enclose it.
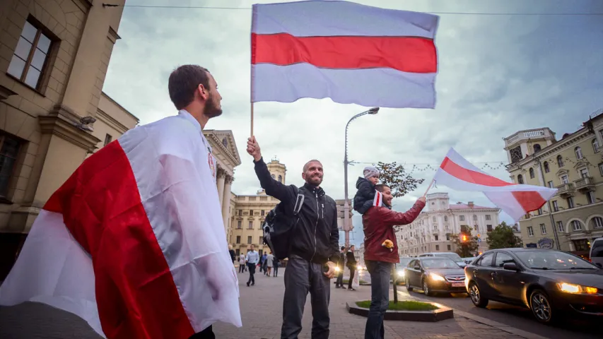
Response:
[[[438,71],[435,44],[424,37],[294,37],[287,33],[252,33],[251,41],[252,64],[308,63],[327,69]]]

